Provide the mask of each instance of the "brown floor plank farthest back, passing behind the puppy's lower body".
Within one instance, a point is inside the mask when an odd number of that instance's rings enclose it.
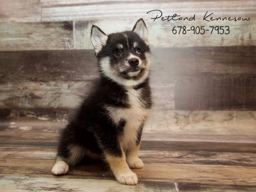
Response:
[[[55,132],[6,132],[0,131],[2,146],[57,146],[59,133]],[[228,141],[227,141],[228,142]],[[213,152],[246,152],[256,153],[255,143],[215,143],[215,142],[184,142],[184,141],[149,141],[143,140],[141,150],[187,150]]]

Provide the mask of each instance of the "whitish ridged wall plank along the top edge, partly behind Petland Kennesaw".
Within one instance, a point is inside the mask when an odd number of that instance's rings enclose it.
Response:
[[[160,9],[164,12],[164,16],[170,13],[179,13],[183,16],[192,16],[195,13],[198,16],[203,16],[207,11],[215,12],[218,16],[256,16],[256,4],[253,0],[230,0],[221,2],[215,1],[166,1],[158,0],[154,2],[145,1],[60,1],[53,2],[42,0],[42,20],[120,20],[131,16],[135,18],[147,16],[146,12],[152,9]],[[71,3],[72,2],[72,3]],[[239,9],[237,9],[239,7]],[[189,9],[188,9],[189,8]],[[236,13],[236,14],[234,14]],[[148,14],[152,17],[152,14]]]

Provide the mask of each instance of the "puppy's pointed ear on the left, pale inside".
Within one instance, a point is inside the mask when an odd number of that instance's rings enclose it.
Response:
[[[104,47],[107,43],[108,35],[106,35],[99,27],[96,25],[92,26],[91,30],[91,42],[95,49],[95,54],[97,55],[102,47]]]

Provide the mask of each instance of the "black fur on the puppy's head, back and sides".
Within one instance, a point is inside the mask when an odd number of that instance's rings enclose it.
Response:
[[[125,35],[128,37],[128,45]],[[105,77],[102,70],[100,70],[99,61],[108,56],[111,65],[115,66],[121,60],[125,60],[129,52],[135,55],[136,52],[133,47],[135,41],[138,43],[138,47],[140,47],[142,52],[142,54],[139,55],[140,58],[145,60],[145,52],[150,53],[150,49],[139,35],[132,31],[108,35],[106,45],[97,54],[100,73],[99,82],[95,84],[94,90],[90,96],[81,103],[76,116],[71,119],[67,127],[64,128],[58,146],[58,156],[68,158],[70,156],[70,145],[82,146],[96,154],[103,154],[103,151],[107,151],[114,156],[122,156],[122,149],[119,145],[118,138],[123,134],[126,122],[122,119],[118,125],[114,125],[104,106],[112,105],[117,108],[130,108],[131,106],[128,102],[126,87]],[[124,47],[122,58],[116,58],[114,56],[116,44],[127,45]],[[139,78],[140,77],[138,77],[138,79]],[[141,90],[142,94],[140,100],[144,103],[143,107],[145,109],[151,108],[149,78],[146,78],[145,81],[134,86],[133,89]],[[138,129],[137,145],[140,144],[142,129],[143,123]]]

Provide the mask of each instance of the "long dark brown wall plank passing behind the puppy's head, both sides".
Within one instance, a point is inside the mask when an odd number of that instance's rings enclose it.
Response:
[[[86,80],[97,76],[93,50],[0,52],[0,81]],[[256,46],[152,49],[152,83],[183,78],[256,78]]]

